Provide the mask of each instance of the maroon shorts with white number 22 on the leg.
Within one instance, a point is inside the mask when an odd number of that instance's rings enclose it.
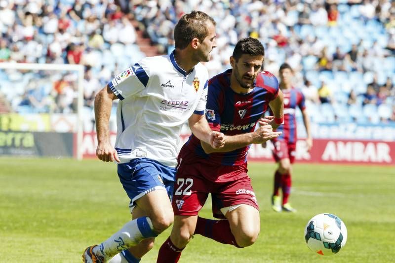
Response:
[[[247,175],[247,164],[210,164],[186,147],[181,150],[178,159],[172,200],[175,215],[197,215],[209,193],[216,218],[224,218],[221,208],[236,204],[248,204],[259,210],[251,179]]]

